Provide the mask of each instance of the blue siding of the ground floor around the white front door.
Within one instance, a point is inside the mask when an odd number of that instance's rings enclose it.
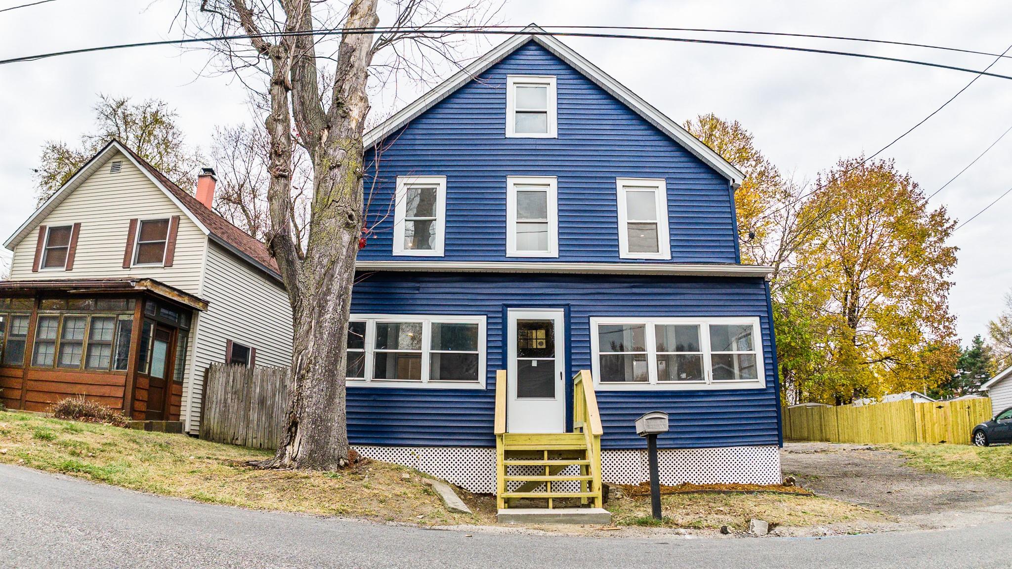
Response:
[[[569,378],[589,370],[590,318],[614,316],[759,317],[766,389],[726,391],[599,391],[605,449],[644,442],[632,420],[647,411],[671,415],[662,448],[778,443],[777,395],[766,288],[761,278],[594,276],[546,274],[360,274],[352,312],[484,315],[485,390],[348,389],[348,429],[355,444],[494,446],[495,373],[505,369],[504,310],[567,311]],[[567,408],[572,413],[572,385]]]

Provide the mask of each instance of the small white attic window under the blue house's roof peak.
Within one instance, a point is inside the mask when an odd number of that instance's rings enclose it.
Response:
[[[506,137],[554,139],[556,78],[540,75],[506,77]]]

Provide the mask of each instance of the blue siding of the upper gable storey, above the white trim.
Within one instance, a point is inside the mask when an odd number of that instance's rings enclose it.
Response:
[[[506,138],[510,74],[557,77],[558,139]],[[559,257],[531,261],[627,260],[618,258],[617,177],[667,180],[672,261],[738,260],[729,181],[534,43],[391,135],[366,162],[366,223],[375,230],[359,252],[363,260],[418,259],[392,252],[401,175],[446,176],[446,260],[507,259],[510,175],[558,177]]]

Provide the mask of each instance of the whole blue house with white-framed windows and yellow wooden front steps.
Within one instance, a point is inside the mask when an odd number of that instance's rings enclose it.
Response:
[[[779,483],[770,269],[740,262],[739,170],[527,33],[365,143],[360,454],[501,500],[595,501],[595,477],[647,480],[634,421],[661,410],[663,483]]]

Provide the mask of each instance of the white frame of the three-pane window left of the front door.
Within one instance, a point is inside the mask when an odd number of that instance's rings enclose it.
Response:
[[[486,317],[484,315],[461,316],[441,314],[352,314],[348,321],[365,322],[365,378],[347,378],[350,387],[409,388],[409,389],[485,389],[488,379],[488,342],[486,340]],[[375,328],[377,322],[421,322],[422,323],[422,376],[421,381],[374,380]],[[478,381],[440,382],[429,381],[430,354],[432,353],[432,324],[478,324]],[[408,351],[408,350],[383,350]],[[435,350],[442,353],[442,350]]]

